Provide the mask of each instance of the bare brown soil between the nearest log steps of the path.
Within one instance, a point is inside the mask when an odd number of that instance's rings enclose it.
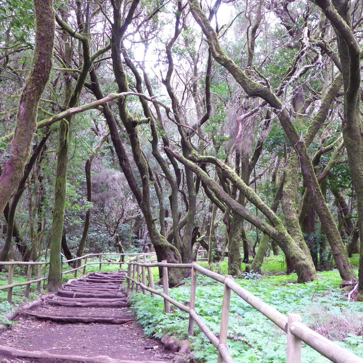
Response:
[[[103,284],[100,283],[100,286]],[[117,290],[117,293],[119,291]],[[107,299],[105,299],[107,301]],[[69,317],[133,318],[127,307],[63,307],[46,302],[31,310],[41,315]],[[107,355],[114,359],[169,361],[174,357],[164,351],[158,341],[143,337],[143,329],[136,322],[114,325],[105,323],[55,323],[25,315],[16,318],[12,329],[0,334],[0,345],[27,351],[47,351],[52,354],[97,356]],[[70,360],[50,358],[6,358],[0,363],[70,363]]]

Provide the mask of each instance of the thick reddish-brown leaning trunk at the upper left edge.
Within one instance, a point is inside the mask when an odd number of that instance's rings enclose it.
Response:
[[[49,80],[53,64],[53,1],[34,0],[35,48],[29,76],[20,95],[10,158],[0,176],[0,215],[17,188],[28,162],[34,132],[37,130],[38,102]]]

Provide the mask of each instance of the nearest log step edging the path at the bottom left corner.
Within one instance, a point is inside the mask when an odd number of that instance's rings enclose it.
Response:
[[[125,360],[125,359],[113,359],[107,355],[97,355],[94,357],[86,357],[82,355],[70,355],[70,354],[53,354],[47,351],[27,351],[16,349],[12,347],[7,347],[0,345],[0,354],[12,357],[23,357],[23,358],[50,358],[50,359],[61,359],[70,360],[75,362],[85,362],[85,363],[136,363],[139,360]],[[155,360],[144,360],[143,363],[168,363]]]

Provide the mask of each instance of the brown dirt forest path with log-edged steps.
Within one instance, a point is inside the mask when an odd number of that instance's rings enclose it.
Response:
[[[0,363],[170,361],[174,354],[144,338],[134,321],[121,289],[125,277],[125,271],[89,273],[24,310],[18,324],[0,334]]]

